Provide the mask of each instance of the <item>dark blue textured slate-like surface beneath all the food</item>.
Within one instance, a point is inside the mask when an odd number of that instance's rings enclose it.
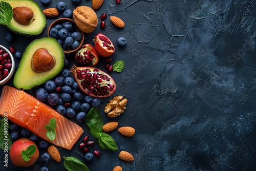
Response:
[[[67,8],[76,7],[71,1],[63,2]],[[82,0],[79,5],[92,7],[91,3]],[[56,4],[53,1],[48,7]],[[117,29],[108,17],[106,29],[98,25],[85,34],[85,42],[92,44],[99,32],[114,42],[126,37],[127,46],[117,47],[112,56],[123,60],[125,68],[111,76],[117,82],[114,96],[123,95],[128,103],[115,119],[103,113],[112,97],[102,99],[100,111],[104,122],[133,126],[136,134],[126,138],[117,131],[110,133],[119,150],[103,151],[95,145],[101,157],[86,163],[90,170],[112,170],[115,165],[125,171],[255,170],[255,1],[122,0],[116,5],[115,0],[105,0],[96,10],[98,16],[103,12],[122,18],[125,27]],[[48,19],[48,26],[54,19]],[[16,36],[8,44],[7,29],[0,29],[1,44],[18,51],[34,39]],[[72,61],[73,56],[67,57]],[[104,70],[103,66],[103,62],[97,65]],[[28,92],[34,95],[35,90]],[[132,153],[135,160],[121,161],[121,150]],[[84,161],[76,151],[77,145],[72,151],[60,149],[61,156]],[[8,169],[38,170],[42,165],[16,168],[9,161]],[[6,169],[2,162],[0,167]],[[47,167],[65,170],[63,160],[50,160]]]

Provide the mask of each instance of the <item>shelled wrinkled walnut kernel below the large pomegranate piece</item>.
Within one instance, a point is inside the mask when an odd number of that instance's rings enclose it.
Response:
[[[123,99],[123,96],[116,96],[106,104],[104,112],[111,118],[120,116],[126,109],[126,103],[127,99]]]

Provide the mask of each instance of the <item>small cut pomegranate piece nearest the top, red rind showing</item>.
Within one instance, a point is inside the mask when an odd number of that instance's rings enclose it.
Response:
[[[97,36],[94,37],[93,42],[95,44],[95,49],[100,56],[108,57],[115,52],[115,47],[112,41],[102,33],[97,34]]]

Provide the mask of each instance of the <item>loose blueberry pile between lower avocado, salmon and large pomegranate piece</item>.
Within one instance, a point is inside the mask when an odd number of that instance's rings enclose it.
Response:
[[[36,91],[36,97],[41,102],[48,102],[56,107],[61,115],[70,118],[76,116],[78,122],[84,122],[92,107],[98,108],[100,98],[83,95],[77,91],[78,83],[73,79],[68,69],[61,70],[60,75],[48,80],[44,88]]]

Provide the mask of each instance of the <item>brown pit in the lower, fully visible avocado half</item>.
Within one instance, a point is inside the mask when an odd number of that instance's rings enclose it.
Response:
[[[40,48],[33,54],[31,66],[34,72],[46,72],[55,66],[55,58],[47,49]]]

